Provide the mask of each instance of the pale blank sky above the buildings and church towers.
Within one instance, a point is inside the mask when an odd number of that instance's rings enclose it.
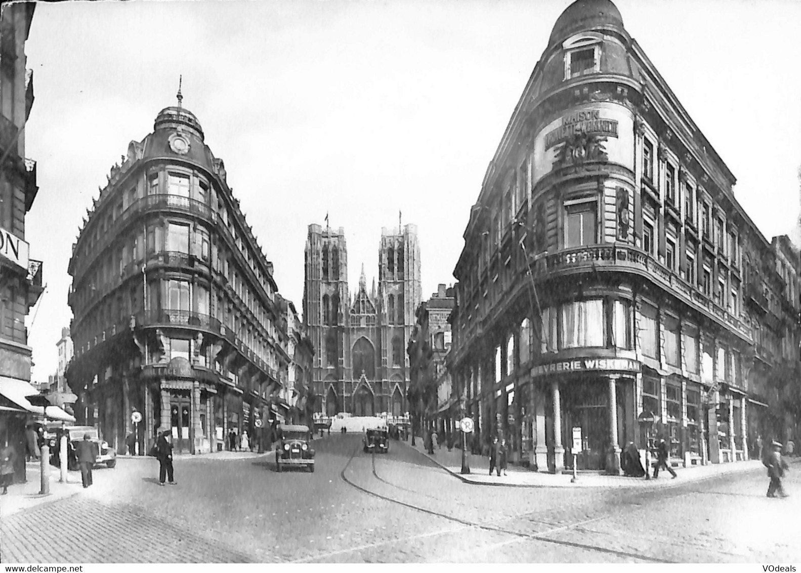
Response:
[[[570,0],[40,3],[26,219],[47,283],[34,381],[69,325],[66,265],[98,186],[163,107],[183,103],[300,309],[310,223],[343,226],[352,288],[381,227],[417,224],[424,297],[453,282],[485,169]],[[619,0],[638,40],[738,178],[770,239],[798,238],[801,2]],[[30,319],[34,316],[31,313]]]

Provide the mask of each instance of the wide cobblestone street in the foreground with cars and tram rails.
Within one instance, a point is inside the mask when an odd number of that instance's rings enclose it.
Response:
[[[314,474],[272,455],[122,458],[95,485],[3,514],[3,563],[553,562],[801,559],[797,498],[768,499],[762,470],[670,489],[463,483],[402,442],[363,454],[316,440]],[[795,467],[799,466],[794,466]],[[791,470],[788,490],[799,477]],[[554,477],[555,478],[555,477]],[[42,539],[49,540],[42,545]]]

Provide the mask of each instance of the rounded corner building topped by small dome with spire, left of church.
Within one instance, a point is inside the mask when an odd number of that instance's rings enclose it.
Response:
[[[180,90],[111,168],[68,271],[79,422],[119,452],[133,411],[139,451],[159,429],[193,454],[260,436],[290,361],[272,263]]]

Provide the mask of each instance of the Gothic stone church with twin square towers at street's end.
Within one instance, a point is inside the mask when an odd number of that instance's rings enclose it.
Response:
[[[356,416],[407,412],[406,345],[421,300],[417,228],[381,229],[378,289],[368,291],[362,267],[359,290],[348,292],[344,229],[308,227],[304,324],[319,349],[312,369],[321,412]]]

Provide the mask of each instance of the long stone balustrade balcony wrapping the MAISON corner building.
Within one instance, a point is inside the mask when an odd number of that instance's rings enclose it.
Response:
[[[711,316],[717,317],[744,337],[751,338],[751,329],[747,328],[743,321],[727,312],[710,297],[700,293],[674,271],[666,268],[639,248],[618,244],[591,244],[579,248],[563,249],[539,260],[532,260],[533,275],[540,279],[545,276],[587,272],[602,268],[610,271],[637,272],[650,276],[655,282],[662,284],[678,297],[700,307]]]

